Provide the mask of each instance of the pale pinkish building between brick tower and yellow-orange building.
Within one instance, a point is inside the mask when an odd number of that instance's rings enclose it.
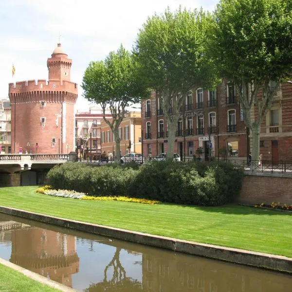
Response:
[[[110,110],[106,110],[105,117],[111,117]],[[100,124],[103,120],[103,111],[100,107],[93,106],[89,111],[75,113],[75,138],[76,146],[100,149]],[[91,134],[91,141],[90,141]],[[80,140],[81,143],[80,143]]]

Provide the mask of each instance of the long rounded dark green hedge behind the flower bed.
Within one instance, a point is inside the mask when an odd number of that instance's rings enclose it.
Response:
[[[233,164],[153,161],[141,165],[92,167],[79,163],[55,166],[48,173],[54,189],[90,196],[126,196],[163,202],[216,206],[234,200],[243,172]]]

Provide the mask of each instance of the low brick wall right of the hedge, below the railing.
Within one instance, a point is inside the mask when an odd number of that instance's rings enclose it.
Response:
[[[292,177],[245,175],[237,202],[246,204],[280,202],[292,204]]]

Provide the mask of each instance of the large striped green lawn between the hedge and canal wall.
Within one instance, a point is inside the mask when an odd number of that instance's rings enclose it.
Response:
[[[87,201],[0,188],[0,205],[153,235],[292,257],[292,214],[239,205],[198,207]]]

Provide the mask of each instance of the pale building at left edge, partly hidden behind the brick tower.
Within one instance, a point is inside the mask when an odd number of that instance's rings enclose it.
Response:
[[[0,152],[11,153],[11,104],[8,98],[0,100]]]

